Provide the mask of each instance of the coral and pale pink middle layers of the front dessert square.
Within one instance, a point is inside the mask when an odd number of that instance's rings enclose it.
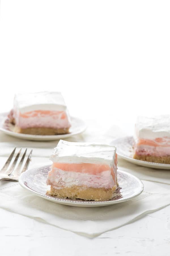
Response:
[[[91,163],[53,163],[47,185],[56,189],[74,185],[109,189],[116,185],[117,161],[115,163],[112,167]]]

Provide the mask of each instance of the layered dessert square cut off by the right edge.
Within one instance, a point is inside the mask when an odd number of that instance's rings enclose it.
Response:
[[[133,158],[170,164],[170,116],[137,118]]]

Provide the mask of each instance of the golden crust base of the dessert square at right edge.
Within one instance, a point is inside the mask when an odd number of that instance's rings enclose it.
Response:
[[[170,156],[152,156],[152,155],[137,155],[133,156],[134,159],[152,162],[152,163],[166,163],[170,164]]]

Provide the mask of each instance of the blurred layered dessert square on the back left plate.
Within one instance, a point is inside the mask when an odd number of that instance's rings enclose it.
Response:
[[[14,132],[39,135],[67,134],[71,126],[60,92],[16,94],[10,122]]]

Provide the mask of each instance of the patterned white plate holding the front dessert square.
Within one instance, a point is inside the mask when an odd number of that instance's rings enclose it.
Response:
[[[137,177],[125,171],[118,170],[119,187],[114,193],[114,198],[112,200],[86,201],[82,199],[74,200],[69,198],[49,196],[46,194],[46,191],[50,188],[50,186],[46,185],[46,177],[49,170],[50,165],[29,169],[21,174],[19,183],[23,188],[28,189],[30,192],[44,199],[59,204],[81,207],[105,206],[128,201],[131,198],[138,196],[143,191],[143,183]]]

